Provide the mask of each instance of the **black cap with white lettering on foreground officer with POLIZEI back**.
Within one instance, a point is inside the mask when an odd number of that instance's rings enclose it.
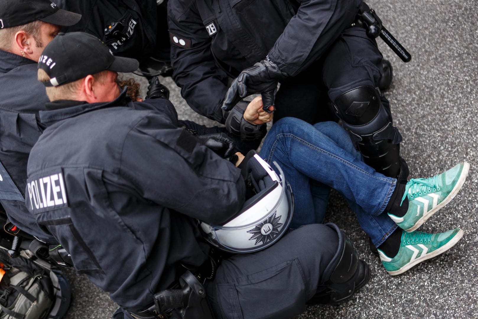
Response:
[[[38,68],[51,78],[45,87],[57,87],[104,70],[133,72],[138,60],[114,56],[94,35],[84,32],[59,33],[43,50]]]

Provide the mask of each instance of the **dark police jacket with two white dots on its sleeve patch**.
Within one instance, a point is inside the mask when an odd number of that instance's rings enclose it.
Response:
[[[173,79],[193,110],[224,122],[226,74],[237,77],[268,56],[287,76],[298,75],[350,26],[361,2],[169,0]]]

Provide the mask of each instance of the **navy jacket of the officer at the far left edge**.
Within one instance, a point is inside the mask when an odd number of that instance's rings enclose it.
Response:
[[[37,63],[0,50],[0,202],[11,222],[43,240],[53,237],[26,209],[27,161],[42,133],[38,112],[48,98],[37,80]]]

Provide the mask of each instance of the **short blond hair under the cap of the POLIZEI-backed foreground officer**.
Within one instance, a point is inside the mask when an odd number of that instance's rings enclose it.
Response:
[[[99,83],[103,83],[104,79],[106,78],[107,75],[107,70],[101,71],[98,73],[93,74],[93,78],[95,81],[98,81]],[[78,94],[79,89],[81,88],[81,84],[84,80],[83,78],[80,78],[79,80],[62,84],[57,87],[46,87],[46,96],[50,101],[56,101],[59,99],[76,99],[76,95]],[[46,74],[46,72],[43,69],[38,69],[38,81],[40,82],[48,82],[50,81],[50,76]]]

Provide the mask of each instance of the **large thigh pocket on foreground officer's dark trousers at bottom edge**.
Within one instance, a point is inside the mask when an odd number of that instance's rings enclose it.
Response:
[[[305,310],[304,272],[297,259],[217,284],[217,301],[223,318],[292,318]]]

